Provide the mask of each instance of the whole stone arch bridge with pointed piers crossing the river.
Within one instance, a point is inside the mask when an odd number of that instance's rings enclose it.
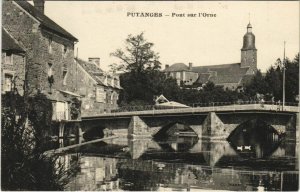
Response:
[[[79,134],[92,129],[128,137],[153,137],[164,127],[178,123],[190,127],[199,138],[226,139],[239,125],[260,120],[298,141],[299,108],[276,105],[230,105],[107,113],[82,117]]]

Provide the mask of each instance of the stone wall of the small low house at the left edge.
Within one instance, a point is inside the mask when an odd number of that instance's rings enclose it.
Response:
[[[25,57],[23,55],[12,54],[12,64],[5,63],[5,52],[1,53],[1,93],[5,83],[5,74],[14,77],[16,88],[20,95],[24,94],[23,85],[25,80]]]

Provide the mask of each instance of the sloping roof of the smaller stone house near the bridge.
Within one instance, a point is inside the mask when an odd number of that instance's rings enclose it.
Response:
[[[97,65],[94,63],[90,63],[82,59],[75,60],[98,84],[105,85],[102,69],[97,67]]]

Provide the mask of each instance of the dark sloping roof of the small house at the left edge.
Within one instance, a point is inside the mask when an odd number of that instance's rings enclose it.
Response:
[[[2,50],[24,53],[24,49],[2,27]]]

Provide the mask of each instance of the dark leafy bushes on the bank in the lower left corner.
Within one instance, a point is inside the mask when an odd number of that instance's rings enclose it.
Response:
[[[78,166],[67,169],[59,155],[44,154],[52,103],[40,93],[29,97],[26,81],[23,96],[15,87],[1,98],[1,188],[63,190]]]

